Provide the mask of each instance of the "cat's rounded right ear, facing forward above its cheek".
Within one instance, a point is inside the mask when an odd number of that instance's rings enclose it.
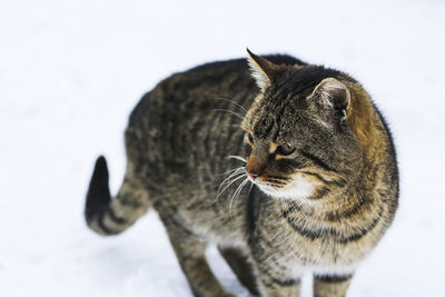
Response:
[[[350,92],[342,81],[335,78],[326,78],[315,87],[310,97],[322,108],[322,112],[324,112],[323,118],[326,121],[330,121],[332,116],[340,120],[347,118],[350,106]]]

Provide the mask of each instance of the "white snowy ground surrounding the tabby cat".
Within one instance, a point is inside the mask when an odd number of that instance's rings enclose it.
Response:
[[[145,91],[246,46],[353,73],[393,128],[400,208],[348,296],[444,296],[445,3],[362,2],[1,0],[0,296],[191,296],[157,215],[101,238],[86,188],[106,154],[118,189]]]

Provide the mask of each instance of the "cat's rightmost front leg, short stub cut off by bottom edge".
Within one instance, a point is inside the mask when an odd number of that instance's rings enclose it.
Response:
[[[314,297],[345,297],[352,277],[314,276]]]

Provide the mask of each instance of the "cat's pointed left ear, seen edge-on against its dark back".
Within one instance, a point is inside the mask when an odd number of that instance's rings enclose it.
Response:
[[[258,87],[264,91],[274,81],[274,75],[277,72],[278,66],[268,61],[267,59],[256,56],[247,49],[249,58],[247,59],[251,76],[257,81]]]

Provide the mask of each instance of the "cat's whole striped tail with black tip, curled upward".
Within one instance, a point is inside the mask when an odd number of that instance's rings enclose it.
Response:
[[[127,165],[118,195],[111,198],[108,168],[103,156],[95,166],[85,206],[87,225],[100,235],[117,235],[130,227],[150,207],[147,190],[142,189]]]

